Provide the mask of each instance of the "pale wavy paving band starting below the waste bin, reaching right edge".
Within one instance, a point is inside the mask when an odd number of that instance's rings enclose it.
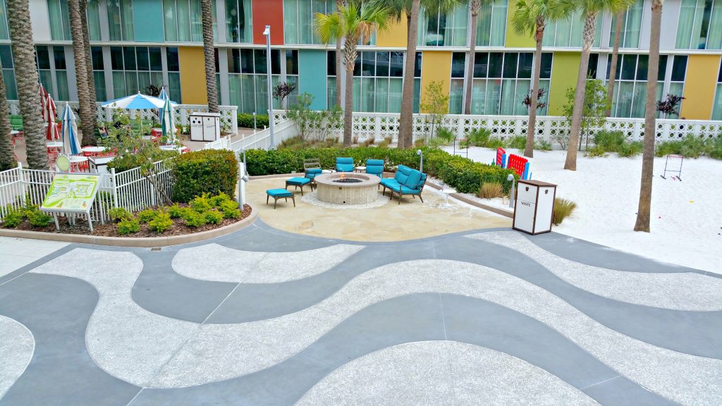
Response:
[[[519,251],[577,288],[627,303],[689,311],[722,310],[722,279],[696,274],[627,272],[570,261],[514,231],[466,236]]]

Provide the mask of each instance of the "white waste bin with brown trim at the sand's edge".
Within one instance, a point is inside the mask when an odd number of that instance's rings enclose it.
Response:
[[[512,228],[531,235],[552,230],[552,211],[557,185],[540,181],[519,181]]]

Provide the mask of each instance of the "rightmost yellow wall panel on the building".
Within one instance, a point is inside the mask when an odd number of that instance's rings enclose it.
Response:
[[[690,55],[681,117],[688,120],[709,120],[712,117],[719,67],[719,55]]]

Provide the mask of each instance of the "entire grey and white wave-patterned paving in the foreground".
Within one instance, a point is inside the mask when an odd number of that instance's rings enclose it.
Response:
[[[0,337],[0,405],[722,404],[722,278],[554,233],[70,244]]]

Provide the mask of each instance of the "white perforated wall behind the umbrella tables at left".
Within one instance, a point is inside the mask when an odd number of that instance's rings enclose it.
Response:
[[[72,108],[79,108],[78,102],[69,103]],[[20,106],[17,100],[8,100],[8,105],[10,114],[20,113]],[[60,118],[60,116],[63,114],[64,105],[64,102],[58,102],[58,111],[56,112],[58,118]],[[155,108],[147,110],[123,110],[125,111],[125,113],[129,114],[131,118],[136,118],[136,116],[139,115],[142,120],[158,119],[158,111]],[[238,122],[238,106],[219,105],[218,110],[221,115],[221,125],[230,126],[231,129],[235,129]],[[206,113],[207,111],[207,105],[179,104],[175,106],[175,114],[173,118],[175,119],[175,124],[187,126],[188,118],[191,116],[191,113]],[[104,108],[101,106],[101,103],[96,103],[95,114],[98,121],[111,121],[113,119],[113,109]]]

